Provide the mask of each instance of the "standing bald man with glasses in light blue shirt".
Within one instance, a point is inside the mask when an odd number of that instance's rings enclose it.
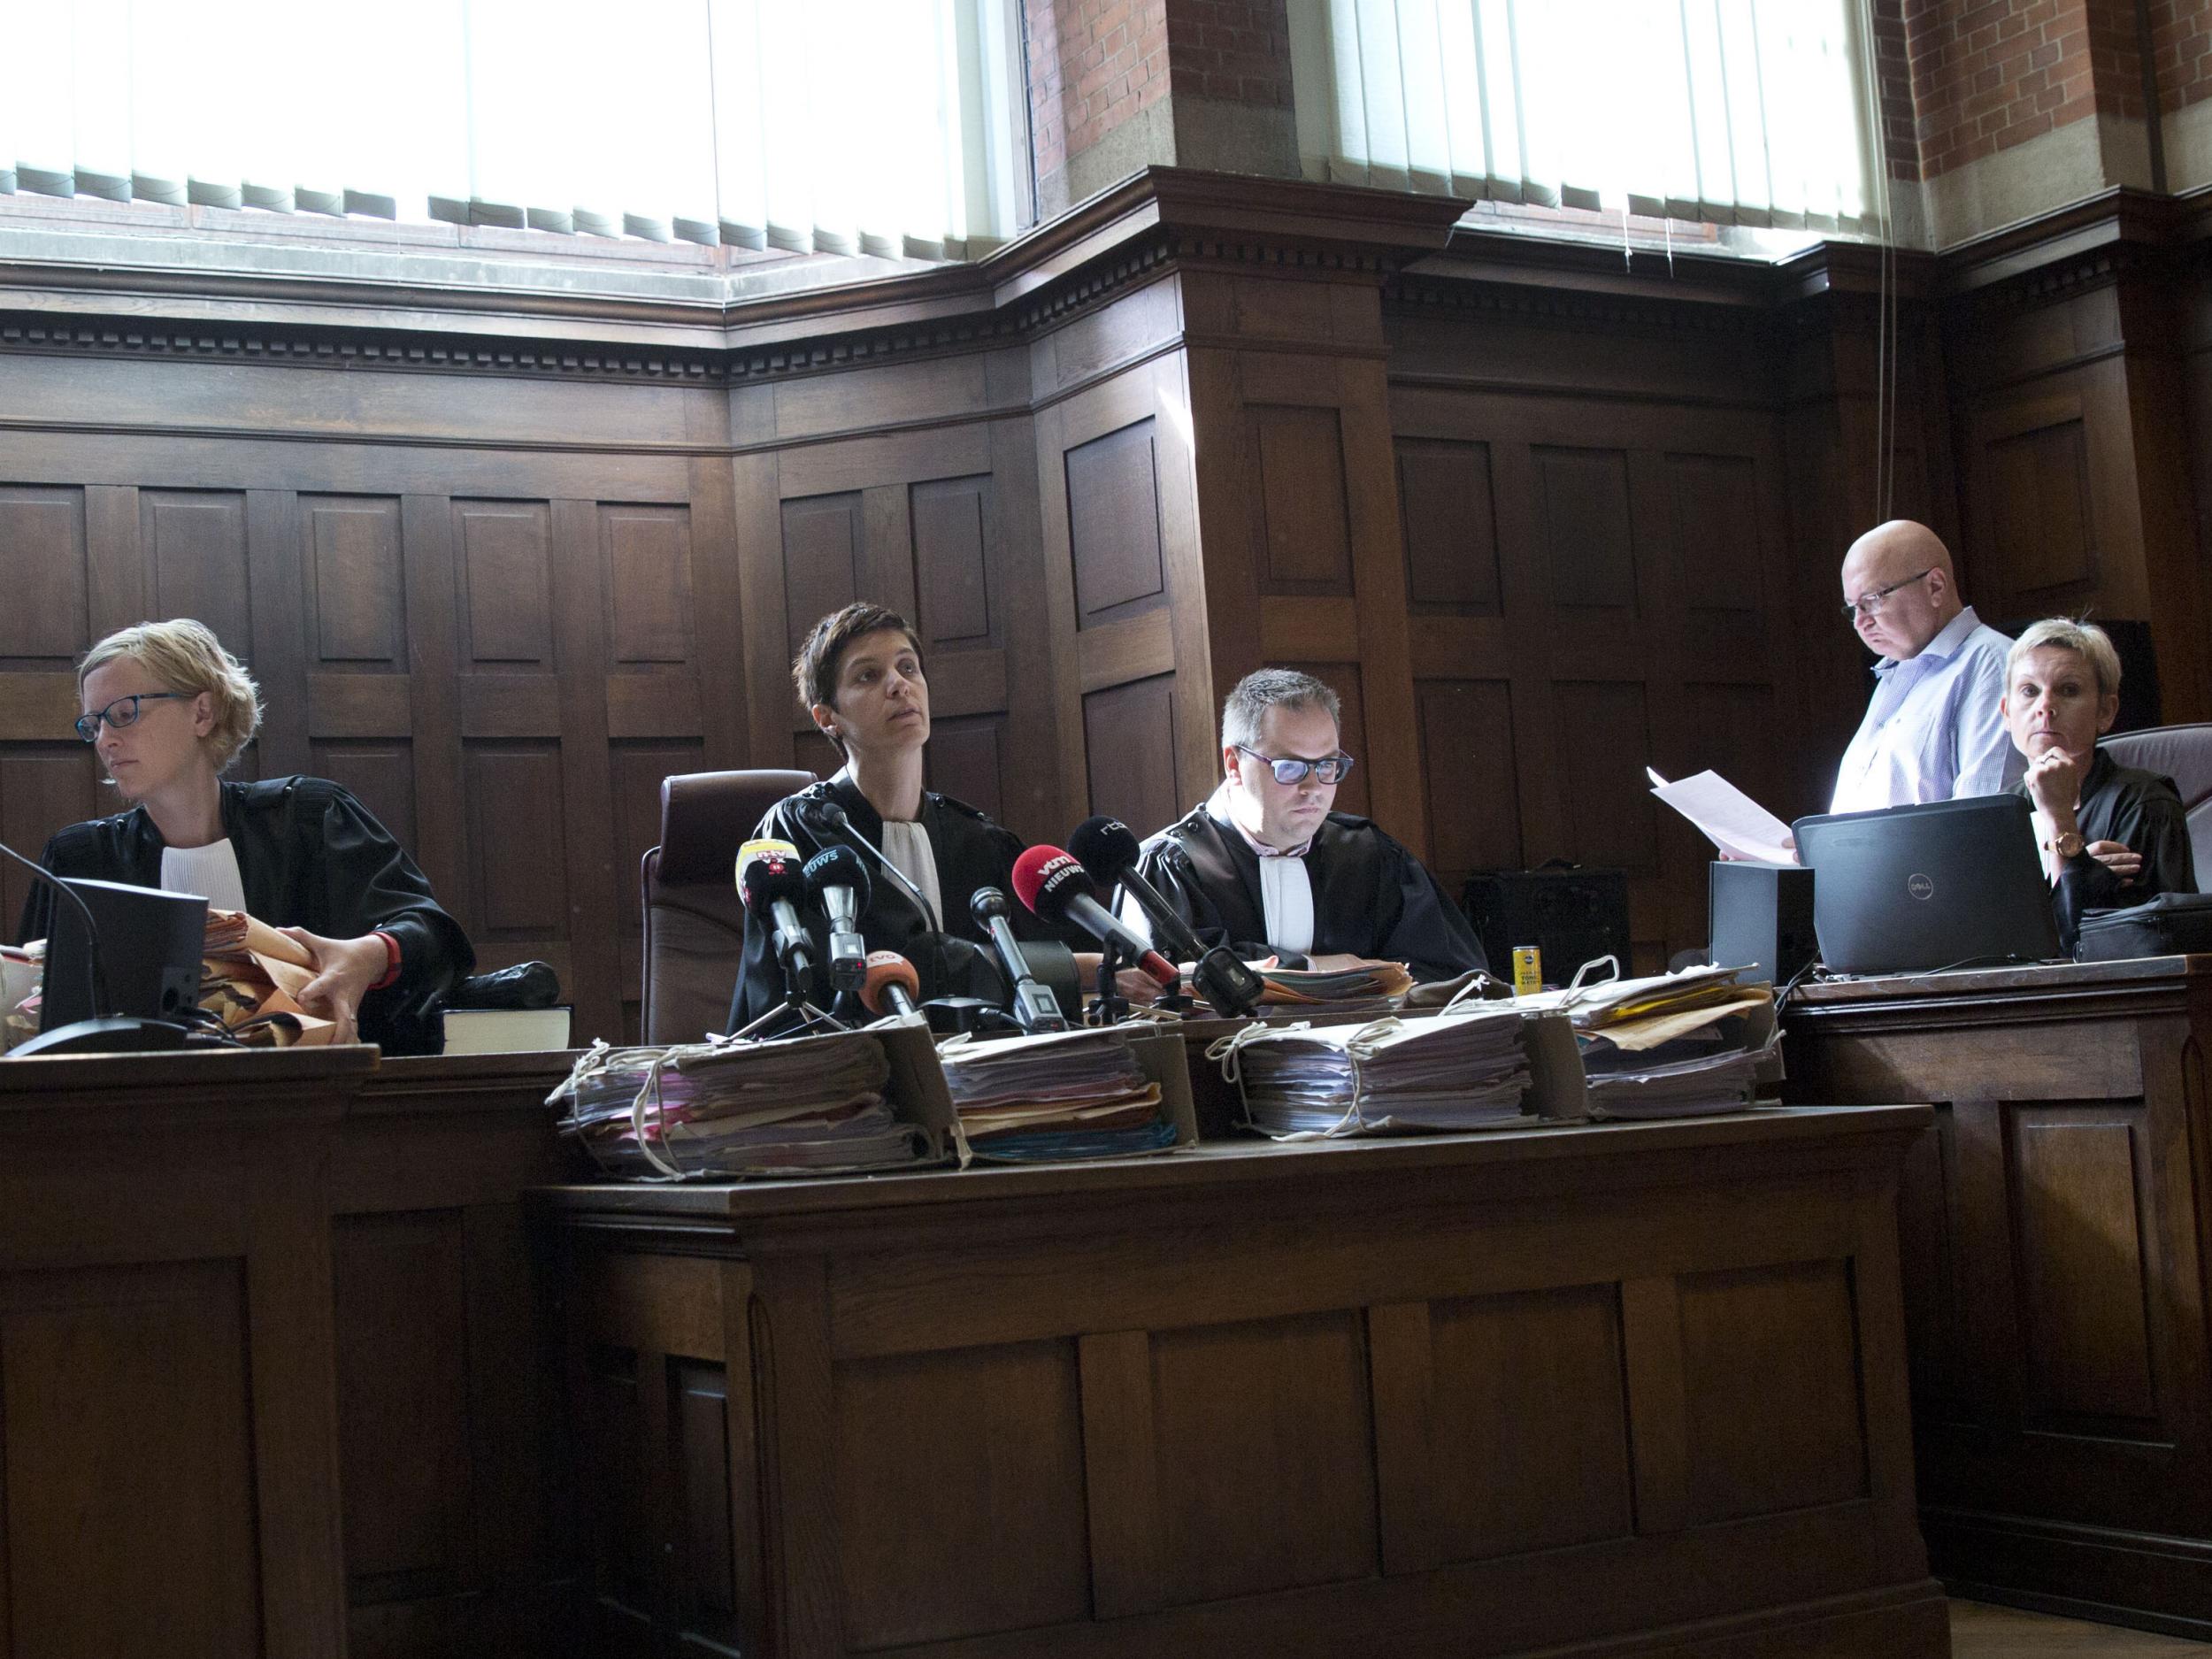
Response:
[[[1829,812],[2008,790],[2022,763],[1997,706],[2013,641],[1960,599],[1951,549],[1936,531],[1896,518],[1851,542],[1843,611],[1880,661]]]

